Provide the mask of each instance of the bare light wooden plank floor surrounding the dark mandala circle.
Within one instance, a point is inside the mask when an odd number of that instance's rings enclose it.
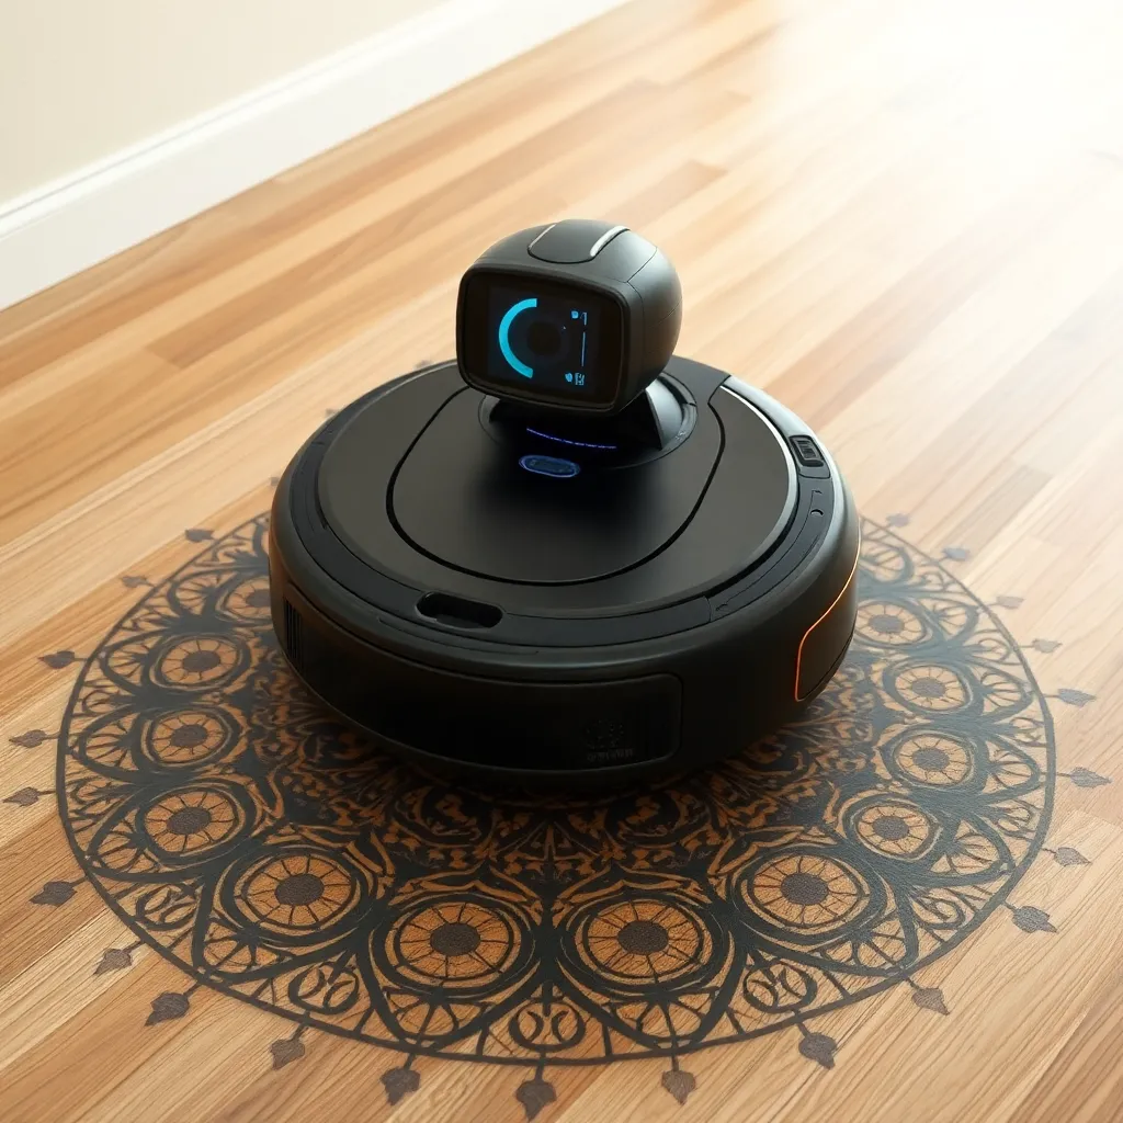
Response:
[[[1121,58],[1113,0],[634,0],[0,312],[0,1119],[1123,1120]],[[1003,907],[806,1024],[402,1066],[134,935],[58,734],[130,606],[328,412],[453,353],[477,252],[564,214],[665,248],[679,353],[802,414],[1008,629],[1051,818]]]

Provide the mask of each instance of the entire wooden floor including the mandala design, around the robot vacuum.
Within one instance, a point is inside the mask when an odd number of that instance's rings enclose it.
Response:
[[[1123,1119],[1121,58],[1111,2],[634,0],[0,312],[0,1117]],[[565,214],[829,444],[860,642],[810,732],[611,830],[364,802],[258,515]],[[489,815],[518,860],[448,841]],[[303,849],[243,868],[250,819]]]

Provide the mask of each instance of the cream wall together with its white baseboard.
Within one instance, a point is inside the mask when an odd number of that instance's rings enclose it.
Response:
[[[0,309],[626,0],[0,0]]]

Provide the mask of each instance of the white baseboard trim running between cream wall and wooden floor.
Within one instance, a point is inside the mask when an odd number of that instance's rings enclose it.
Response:
[[[0,309],[623,2],[446,0],[348,51],[0,203]]]

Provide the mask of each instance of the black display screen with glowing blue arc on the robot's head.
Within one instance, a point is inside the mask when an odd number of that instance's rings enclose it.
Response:
[[[468,374],[518,396],[574,405],[613,401],[620,382],[619,305],[577,285],[476,276],[463,298]]]

